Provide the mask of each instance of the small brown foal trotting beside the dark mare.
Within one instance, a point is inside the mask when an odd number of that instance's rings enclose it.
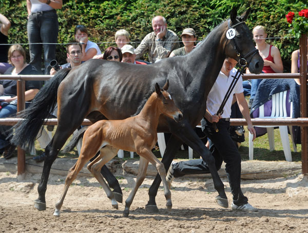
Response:
[[[153,146],[157,142],[157,126],[160,115],[164,114],[177,122],[181,121],[183,118],[181,111],[176,107],[170,94],[166,91],[168,87],[168,80],[163,90],[161,90],[159,84],[156,83],[155,92],[151,94],[137,116],[129,117],[124,120],[100,120],[89,126],[83,137],[80,156],[75,165],[70,168],[65,180],[63,193],[60,200],[55,204],[54,216],[60,216],[60,209],[69,186],[83,166],[93,158],[99,150],[101,151],[100,155],[90,162],[87,168],[100,182],[107,197],[111,200],[113,208],[116,209],[118,209],[118,203],[111,189],[103,179],[100,172],[101,168],[117,155],[119,149],[136,152],[140,155],[139,173],[137,175],[136,185],[125,202],[124,217],[128,217],[129,215],[129,207],[139,186],[145,178],[149,162],[156,167],[163,181],[167,208],[170,209],[172,207],[171,192],[166,182],[164,164],[151,152]]]

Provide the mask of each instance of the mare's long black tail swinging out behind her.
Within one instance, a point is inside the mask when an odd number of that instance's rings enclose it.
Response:
[[[35,95],[29,107],[21,112],[20,117],[24,120],[14,126],[15,134],[10,135],[12,144],[20,145],[24,150],[32,148],[45,119],[55,107],[57,89],[70,70],[62,69],[56,72]]]

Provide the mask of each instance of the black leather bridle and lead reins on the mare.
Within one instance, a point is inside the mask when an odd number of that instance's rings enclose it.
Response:
[[[235,24],[235,25],[233,25],[233,26],[230,26],[230,19],[228,19],[228,29],[230,29],[230,28],[236,28],[238,25],[244,24],[244,23],[245,23],[245,22],[242,21],[242,22],[239,22],[239,23],[237,23],[237,24]],[[217,111],[217,115],[223,113],[223,108],[224,108],[224,106],[225,106],[225,104],[226,104],[228,98],[230,97],[230,94],[232,93],[233,89],[235,88],[235,85],[236,85],[237,81],[239,80],[240,76],[243,74],[244,69],[245,69],[246,66],[251,62],[251,60],[253,59],[253,56],[254,56],[256,53],[259,52],[259,50],[254,49],[254,50],[252,50],[251,52],[249,52],[249,53],[247,53],[246,55],[243,56],[241,50],[240,50],[239,47],[237,46],[237,43],[236,43],[236,40],[235,40],[235,36],[232,37],[232,38],[230,38],[230,40],[233,41],[234,50],[236,51],[237,56],[240,58],[239,61],[238,61],[238,63],[239,63],[239,65],[241,66],[241,68],[237,70],[237,72],[236,72],[236,74],[235,74],[234,76],[232,76],[232,77],[233,77],[233,80],[232,80],[232,82],[231,82],[231,84],[230,84],[230,87],[229,87],[229,89],[228,89],[228,91],[227,91],[227,93],[226,93],[224,99],[222,100],[222,103],[221,103],[221,105],[220,105],[220,107],[219,107],[219,109],[218,109],[218,111]],[[251,56],[251,55],[252,55],[252,56]],[[251,59],[249,60],[249,62],[247,62],[247,60],[246,60],[246,58],[247,58],[248,56],[251,56]],[[213,123],[213,127],[214,127],[215,131],[218,132],[218,128],[217,128],[216,122]]]

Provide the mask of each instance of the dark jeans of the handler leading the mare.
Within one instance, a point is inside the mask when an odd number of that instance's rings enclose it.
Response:
[[[241,156],[230,137],[230,122],[220,119],[217,123],[218,132],[209,121],[202,119],[203,132],[209,138],[209,150],[216,160],[216,168],[220,169],[222,161],[226,163],[226,173],[236,205],[248,203],[248,199],[241,190]],[[174,166],[174,176],[180,177],[187,174],[209,173],[208,166],[202,159],[179,162]]]

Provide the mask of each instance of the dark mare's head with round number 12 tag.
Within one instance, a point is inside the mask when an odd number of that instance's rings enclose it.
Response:
[[[253,42],[253,34],[245,24],[250,8],[241,16],[237,17],[237,10],[232,9],[230,19],[224,36],[226,37],[225,55],[239,62],[241,66],[247,66],[249,71],[260,74],[263,68],[263,59]]]

